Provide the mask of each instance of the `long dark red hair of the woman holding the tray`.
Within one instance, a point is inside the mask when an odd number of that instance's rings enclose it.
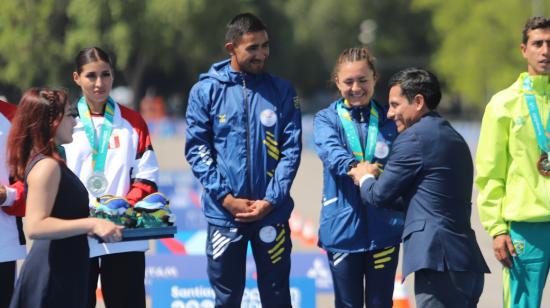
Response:
[[[63,161],[55,150],[55,132],[67,103],[64,91],[31,88],[23,94],[8,136],[8,166],[16,179],[24,179],[27,164],[38,154]]]

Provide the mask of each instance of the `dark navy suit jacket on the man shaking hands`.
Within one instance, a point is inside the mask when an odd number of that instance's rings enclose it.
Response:
[[[378,180],[363,182],[366,204],[404,202],[403,277],[420,269],[489,272],[470,225],[472,181],[468,145],[430,112],[395,139]]]

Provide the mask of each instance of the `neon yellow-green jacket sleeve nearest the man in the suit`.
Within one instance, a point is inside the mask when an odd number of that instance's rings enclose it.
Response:
[[[501,212],[506,192],[507,166],[510,161],[507,150],[510,118],[500,115],[494,106],[491,102],[487,104],[481,122],[475,179],[479,191],[479,218],[483,227],[493,237],[508,232]]]

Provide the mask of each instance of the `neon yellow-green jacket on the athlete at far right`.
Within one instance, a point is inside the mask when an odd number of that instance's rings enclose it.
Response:
[[[526,77],[532,80],[546,128],[549,78],[527,73],[491,98],[481,124],[476,155],[477,208],[481,223],[493,237],[507,233],[510,221],[550,221],[550,177],[542,176],[536,167],[542,152],[522,89]]]

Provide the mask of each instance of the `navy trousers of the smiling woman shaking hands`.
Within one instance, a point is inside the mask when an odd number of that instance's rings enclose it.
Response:
[[[392,307],[399,245],[360,253],[327,252],[335,307]]]

